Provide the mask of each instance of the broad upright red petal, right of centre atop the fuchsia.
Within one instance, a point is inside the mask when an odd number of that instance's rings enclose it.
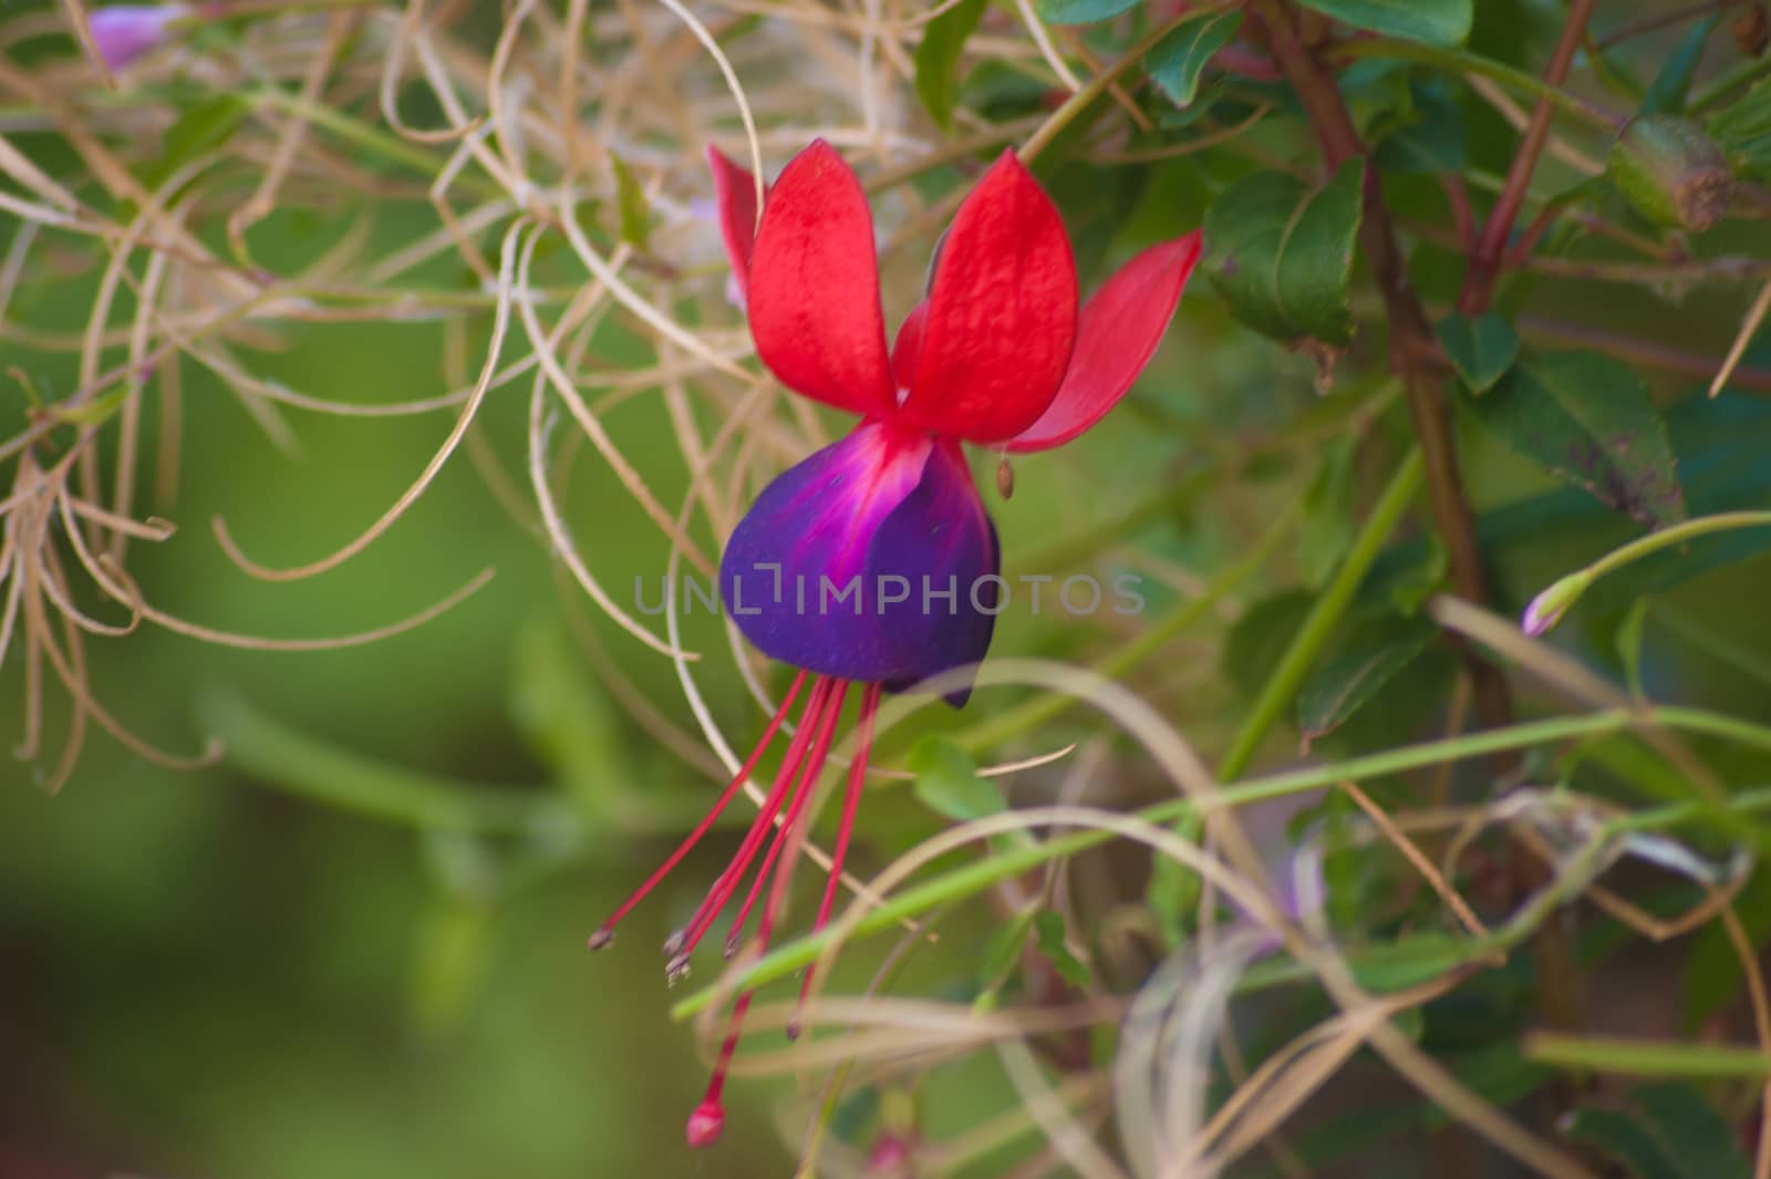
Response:
[[[1015,437],[1052,404],[1075,335],[1064,223],[1002,152],[947,230],[903,418],[974,443]]]

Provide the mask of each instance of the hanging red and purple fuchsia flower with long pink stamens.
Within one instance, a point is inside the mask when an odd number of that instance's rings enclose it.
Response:
[[[762,813],[689,924],[664,944],[673,979],[758,855],[724,949],[742,945],[772,871],[754,935],[767,947],[845,696],[861,685],[859,740],[813,929],[829,921],[880,692],[972,666],[990,646],[1002,584],[997,536],[960,444],[1047,450],[1100,421],[1149,363],[1199,260],[1197,232],[1151,246],[1079,312],[1057,209],[1004,152],[960,205],[928,297],[887,352],[873,218],[848,165],[813,142],[781,172],[758,223],[753,177],[717,150],[708,163],[756,354],[795,393],[861,423],[776,478],[726,543],[728,613],[758,650],[800,673],[708,816],[590,940],[607,945],[615,924],[701,839],[804,692]],[[947,699],[962,706],[965,696]],[[744,993],[733,1007],[707,1098],[689,1119],[691,1145],[714,1142],[724,1124],[721,1089],[749,1002]]]

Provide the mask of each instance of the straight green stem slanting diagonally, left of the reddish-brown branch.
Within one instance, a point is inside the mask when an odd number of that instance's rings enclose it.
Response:
[[[1420,490],[1422,473],[1420,451],[1413,450],[1396,469],[1396,474],[1390,476],[1390,485],[1383,489],[1383,496],[1378,497],[1376,506],[1365,519],[1365,526],[1353,538],[1353,547],[1348,549],[1346,559],[1341,561],[1334,579],[1330,579],[1311,605],[1303,625],[1291,637],[1291,646],[1286,648],[1273,674],[1266,678],[1259,697],[1256,697],[1254,710],[1241,729],[1236,731],[1236,740],[1231,742],[1229,752],[1218,763],[1220,781],[1229,782],[1247,772],[1254,754],[1261,749],[1261,742],[1266,740],[1266,733],[1291,701],[1296,699],[1298,689],[1303,685],[1303,676],[1316,666],[1318,657],[1328,644],[1328,636],[1334,634],[1335,625],[1346,616],[1348,607],[1353,604],[1353,595],[1358,593],[1360,582],[1371,572],[1371,563],[1378,559],[1383,543],[1396,531],[1396,524],[1408,512],[1408,505]]]

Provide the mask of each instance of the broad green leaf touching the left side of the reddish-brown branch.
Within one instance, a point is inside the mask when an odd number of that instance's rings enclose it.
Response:
[[[1206,274],[1231,312],[1288,343],[1353,336],[1348,280],[1358,234],[1364,161],[1311,191],[1280,172],[1231,184],[1206,212]]]

